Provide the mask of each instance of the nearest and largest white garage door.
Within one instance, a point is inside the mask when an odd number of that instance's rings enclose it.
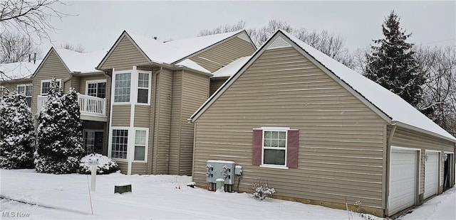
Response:
[[[415,204],[416,150],[391,150],[389,214]]]

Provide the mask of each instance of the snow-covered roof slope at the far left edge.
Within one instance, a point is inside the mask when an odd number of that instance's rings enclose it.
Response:
[[[0,71],[2,72],[0,80],[31,78],[41,61],[43,59],[36,60],[35,63],[33,61],[2,63],[0,64]]]

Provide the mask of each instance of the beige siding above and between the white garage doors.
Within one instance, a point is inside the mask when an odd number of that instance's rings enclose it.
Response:
[[[435,138],[424,133],[417,131],[410,131],[406,128],[396,128],[393,139],[391,140],[392,146],[403,148],[418,148],[421,149],[421,155],[425,154],[425,150],[443,150],[452,152],[454,143],[445,141],[440,138]],[[440,160],[441,157],[440,157]],[[440,161],[442,163],[442,161]],[[443,177],[443,172],[440,172],[440,178]],[[419,193],[423,194],[425,191],[425,163],[420,161],[420,190]]]

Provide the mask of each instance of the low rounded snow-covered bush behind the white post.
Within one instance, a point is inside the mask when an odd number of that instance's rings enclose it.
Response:
[[[90,158],[98,159],[97,174],[109,174],[119,170],[119,165],[115,163],[114,160],[111,160],[107,156],[100,155],[99,153],[90,153],[81,159],[81,163],[79,163],[80,173],[90,174],[92,172],[92,167],[88,165],[88,160]]]

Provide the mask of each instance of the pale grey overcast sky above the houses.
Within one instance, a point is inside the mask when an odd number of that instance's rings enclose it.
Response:
[[[51,33],[54,45],[81,43],[86,51],[108,50],[123,30],[159,40],[195,37],[202,29],[245,21],[260,28],[271,19],[294,28],[338,33],[349,50],[382,38],[381,24],[390,11],[413,32],[410,43],[455,45],[456,1],[66,1],[56,9],[73,14]],[[42,43],[43,55],[51,43]]]

